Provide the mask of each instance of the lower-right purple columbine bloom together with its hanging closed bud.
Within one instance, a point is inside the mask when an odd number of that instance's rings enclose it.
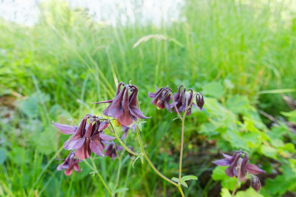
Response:
[[[251,187],[257,192],[260,191],[261,183],[257,176],[259,173],[264,173],[265,171],[260,169],[254,164],[250,164],[249,157],[246,152],[242,150],[236,151],[232,156],[224,154],[225,159],[219,159],[213,161],[214,164],[219,166],[228,166],[225,170],[225,173],[229,177],[238,177],[241,181],[246,181],[251,179]],[[246,175],[247,173],[247,175]]]

